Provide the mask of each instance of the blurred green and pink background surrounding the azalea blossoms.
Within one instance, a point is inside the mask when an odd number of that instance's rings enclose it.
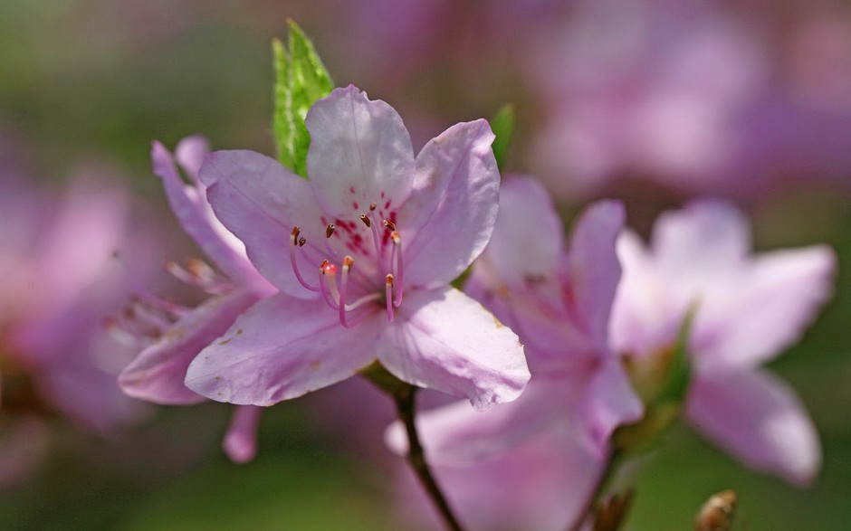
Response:
[[[272,154],[270,41],[288,17],[337,85],[399,111],[415,148],[512,103],[508,170],[539,177],[568,224],[589,200],[617,197],[647,234],[665,208],[714,195],[749,213],[760,250],[832,245],[834,299],[770,365],[818,425],[817,482],[789,487],[676,428],[629,470],[628,526],[690,528],[706,498],[734,488],[737,529],[846,528],[851,4],[840,0],[0,3],[0,265],[12,271],[0,293],[0,528],[406,528],[381,444],[389,404],[366,384],[271,408],[247,465],[220,449],[224,405],[113,412],[109,391],[69,398],[109,387],[131,356],[101,337],[134,288],[115,279],[174,289],[160,264],[198,253],[151,174],[151,140],[203,134]],[[99,199],[74,206],[81,194]],[[105,270],[76,274],[113,249]],[[62,365],[45,383],[41,367],[68,349],[97,352],[108,377]]]

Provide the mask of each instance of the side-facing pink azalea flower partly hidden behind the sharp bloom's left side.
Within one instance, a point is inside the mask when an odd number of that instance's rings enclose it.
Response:
[[[148,402],[191,404],[205,400],[186,388],[187,367],[205,346],[234,324],[237,316],[275,292],[248,261],[243,243],[219,223],[206,201],[206,186],[198,179],[198,168],[208,152],[202,137],[187,137],[177,145],[177,163],[188,175],[188,184],[165,147],[157,142],[151,152],[154,172],[163,180],[177,220],[223,274],[201,261],[190,261],[186,269],[169,263],[178,278],[204,289],[210,297],[191,309],[148,297],[133,305],[131,319],[118,323],[137,345],[144,346],[121,373],[121,389]],[[234,413],[224,442],[231,459],[253,459],[259,415],[260,410],[253,407]]]

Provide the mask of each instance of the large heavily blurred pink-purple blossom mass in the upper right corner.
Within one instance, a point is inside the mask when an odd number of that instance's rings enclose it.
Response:
[[[541,40],[533,75],[550,109],[532,167],[561,195],[593,193],[624,175],[739,195],[779,179],[843,177],[851,107],[837,105],[836,94],[849,76],[821,65],[849,56],[851,16],[834,9],[846,23],[817,30],[808,21],[822,11],[801,10],[782,33],[790,49],[808,50],[804,73],[829,84],[801,81],[799,66],[797,79],[784,78],[786,63],[801,61],[781,53],[781,37],[769,38],[779,30],[768,13],[705,2],[578,2],[568,24]],[[825,42],[818,50],[808,44],[816,38]]]

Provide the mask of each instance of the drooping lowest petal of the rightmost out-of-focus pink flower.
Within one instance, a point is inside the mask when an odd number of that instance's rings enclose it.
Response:
[[[754,469],[798,484],[814,479],[818,434],[787,384],[754,370],[706,371],[692,385],[686,414],[712,441]]]

